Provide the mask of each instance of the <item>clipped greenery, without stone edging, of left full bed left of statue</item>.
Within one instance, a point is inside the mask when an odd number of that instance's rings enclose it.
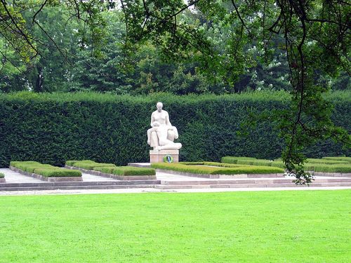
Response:
[[[27,173],[35,173],[44,177],[81,177],[81,172],[79,170],[63,169],[36,161],[11,161],[10,166]]]

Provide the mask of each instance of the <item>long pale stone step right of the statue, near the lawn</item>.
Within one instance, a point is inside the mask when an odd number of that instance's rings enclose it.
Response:
[[[327,182],[312,183],[307,185],[296,185],[293,183],[285,184],[200,184],[200,185],[164,185],[157,184],[155,189],[201,189],[201,188],[250,188],[250,187],[351,187],[351,182]]]

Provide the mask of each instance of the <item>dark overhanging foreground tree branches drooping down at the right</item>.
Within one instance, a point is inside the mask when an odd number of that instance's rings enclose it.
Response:
[[[322,97],[326,87],[316,85],[321,74],[336,76],[350,68],[350,4],[345,1],[121,1],[131,41],[151,39],[169,55],[199,50],[204,72],[216,72],[228,83],[244,72],[247,46],[258,43],[263,61],[272,61],[273,36],[284,39],[289,63],[292,104],[289,111],[275,116],[286,140],[283,159],[296,182],[311,182],[303,171],[302,154],[315,140],[338,137],[350,144],[345,131],[330,121],[331,105]],[[228,3],[231,4],[228,8]],[[189,9],[203,13],[208,20],[232,28],[225,50],[217,50],[206,34],[193,24],[179,22]],[[236,27],[239,22],[239,27]],[[209,25],[211,27],[211,25]]]

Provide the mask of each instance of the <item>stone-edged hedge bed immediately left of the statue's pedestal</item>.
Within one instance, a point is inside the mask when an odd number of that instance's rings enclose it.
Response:
[[[66,161],[66,168],[78,169],[84,173],[117,180],[154,180],[156,171],[154,168],[139,168],[133,166],[116,166],[113,163],[96,163],[91,160]]]

